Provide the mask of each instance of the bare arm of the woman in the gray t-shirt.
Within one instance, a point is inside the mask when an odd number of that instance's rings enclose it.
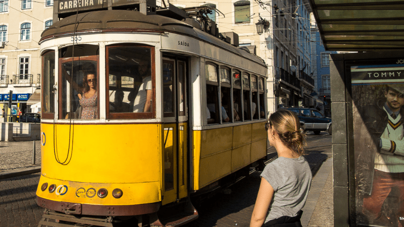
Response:
[[[264,224],[269,205],[274,196],[274,189],[267,180],[261,178],[260,190],[258,191],[256,205],[252,211],[250,227],[261,227]]]

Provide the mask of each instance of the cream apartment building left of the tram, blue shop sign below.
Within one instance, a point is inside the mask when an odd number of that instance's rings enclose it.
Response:
[[[40,101],[38,42],[53,23],[53,5],[53,0],[0,0],[0,107],[9,114],[18,109],[30,112]],[[10,91],[12,107],[8,108]]]

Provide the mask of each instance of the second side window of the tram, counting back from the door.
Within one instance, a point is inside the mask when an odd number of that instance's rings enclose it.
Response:
[[[222,123],[231,122],[230,69],[226,67],[220,68],[220,81],[221,81],[221,98],[222,98],[221,100]]]

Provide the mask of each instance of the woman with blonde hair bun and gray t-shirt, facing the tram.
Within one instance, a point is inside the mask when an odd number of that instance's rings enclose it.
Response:
[[[312,172],[302,156],[305,134],[299,119],[289,110],[278,110],[265,124],[269,144],[278,158],[265,166],[252,211],[250,227],[301,226],[301,208],[305,205],[312,182]]]

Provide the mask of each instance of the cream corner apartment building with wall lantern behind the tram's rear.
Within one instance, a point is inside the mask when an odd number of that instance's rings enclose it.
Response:
[[[307,0],[205,1],[172,0],[180,7],[210,6],[208,15],[219,32],[235,32],[268,65],[268,111],[279,106],[313,105],[314,79],[310,56],[310,13]],[[257,23],[268,21],[258,34]]]

